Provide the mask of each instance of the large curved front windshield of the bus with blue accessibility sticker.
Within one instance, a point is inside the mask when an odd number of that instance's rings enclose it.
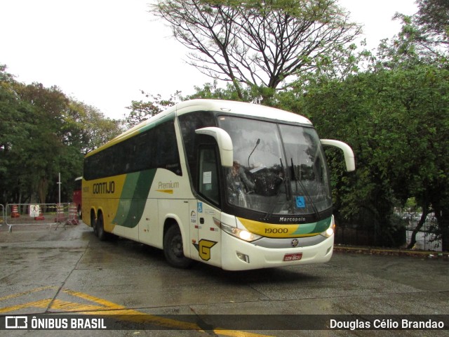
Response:
[[[314,128],[220,116],[232,138],[234,165],[224,168],[226,199],[271,214],[306,215],[332,206],[328,169]]]

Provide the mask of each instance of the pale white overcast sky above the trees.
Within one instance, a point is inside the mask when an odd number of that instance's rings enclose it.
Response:
[[[17,81],[62,92],[121,119],[140,91],[168,98],[212,81],[187,65],[187,49],[148,13],[151,0],[0,0],[0,64]],[[340,0],[363,25],[368,48],[399,32],[394,13],[415,0]]]

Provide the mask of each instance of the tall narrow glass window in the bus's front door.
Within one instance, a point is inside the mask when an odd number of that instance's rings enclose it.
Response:
[[[203,197],[214,204],[220,204],[218,185],[217,153],[215,147],[201,147],[199,150],[199,188]]]

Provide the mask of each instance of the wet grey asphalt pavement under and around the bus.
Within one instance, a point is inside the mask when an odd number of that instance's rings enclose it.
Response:
[[[12,232],[0,227],[0,315],[105,311],[170,315],[173,322],[166,324],[173,329],[177,322],[184,324],[175,315],[269,315],[263,317],[269,330],[250,329],[248,336],[448,336],[448,331],[425,329],[272,330],[276,324],[270,325],[270,317],[449,315],[449,261],[334,253],[321,265],[227,272],[198,263],[177,270],[162,251],[126,239],[100,242],[83,223],[14,227]],[[0,336],[245,336],[234,330],[140,327],[4,330]]]

